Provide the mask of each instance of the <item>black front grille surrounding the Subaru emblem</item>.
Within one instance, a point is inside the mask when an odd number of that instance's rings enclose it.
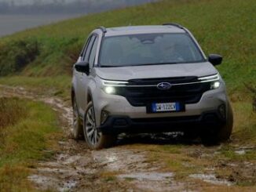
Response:
[[[150,84],[148,84],[150,82]],[[160,82],[170,82],[173,85],[168,90],[159,90],[156,85]],[[141,85],[140,87],[124,86],[117,89],[116,94],[126,97],[126,100],[134,107],[147,106],[149,103],[180,102],[184,104],[198,103],[203,92],[210,90],[210,82],[177,85],[179,83],[196,82],[196,78],[169,78],[130,80],[129,85]],[[155,85],[155,86],[143,86]]]

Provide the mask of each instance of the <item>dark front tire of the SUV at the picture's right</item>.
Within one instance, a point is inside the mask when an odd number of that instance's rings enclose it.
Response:
[[[227,117],[226,117],[225,124],[221,125],[221,127],[219,127],[218,129],[212,128],[212,129],[204,130],[201,133],[201,139],[203,143],[208,145],[225,142],[229,140],[232,134],[232,128],[233,128],[233,111],[232,111],[231,104],[228,103]]]

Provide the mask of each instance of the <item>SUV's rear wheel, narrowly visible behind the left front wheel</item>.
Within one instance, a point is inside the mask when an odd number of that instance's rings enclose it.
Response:
[[[72,135],[74,139],[82,139],[83,133],[82,133],[82,123],[79,117],[79,110],[77,107],[77,103],[75,100],[75,96],[73,98],[73,129],[72,129]]]

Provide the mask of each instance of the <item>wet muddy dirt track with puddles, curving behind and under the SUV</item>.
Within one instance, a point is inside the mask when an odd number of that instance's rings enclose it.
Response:
[[[256,176],[254,164],[244,162],[228,164],[221,161],[218,165],[210,165],[203,173],[194,173],[190,179],[175,178],[177,172],[164,170],[163,162],[148,158],[150,151],[143,147],[133,147],[134,143],[172,144],[180,143],[176,135],[144,134],[139,136],[119,136],[115,147],[104,150],[89,150],[84,141],[71,138],[72,110],[68,103],[57,97],[42,96],[27,92],[23,88],[12,88],[0,85],[0,96],[21,97],[49,104],[56,110],[64,132],[64,139],[58,141],[59,149],[54,151],[50,161],[38,162],[37,168],[27,179],[35,183],[39,190],[57,191],[201,191],[202,183],[207,186],[232,187],[236,184],[236,176],[232,172],[230,178],[220,178],[214,174],[214,166],[230,166],[237,174]],[[217,153],[221,146],[203,147],[200,143],[192,143],[187,151],[191,157]],[[237,147],[237,153],[247,149]],[[250,148],[251,150],[251,148]],[[223,165],[224,164],[224,165]],[[192,166],[188,164],[188,167]],[[241,168],[241,170],[239,170]],[[243,173],[251,170],[251,173]],[[248,171],[249,172],[249,171]],[[249,177],[249,179],[251,178]],[[248,178],[247,178],[248,179]],[[203,185],[204,186],[204,185]],[[215,190],[214,190],[215,191]],[[217,190],[216,190],[217,191]],[[253,190],[247,190],[253,191]]]

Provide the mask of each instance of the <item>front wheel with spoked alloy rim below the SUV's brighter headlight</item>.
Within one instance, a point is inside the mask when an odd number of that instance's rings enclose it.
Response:
[[[90,147],[92,150],[112,147],[116,141],[116,136],[104,135],[102,132],[97,130],[95,125],[93,102],[91,101],[86,107],[86,113],[83,121],[83,134],[88,147]]]

